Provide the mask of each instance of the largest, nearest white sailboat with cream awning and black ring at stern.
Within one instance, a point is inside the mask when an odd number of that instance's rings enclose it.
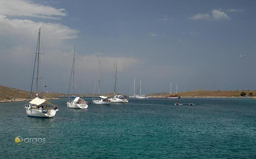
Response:
[[[26,110],[26,113],[28,116],[34,116],[34,117],[53,117],[55,116],[56,112],[59,111],[58,105],[54,105],[51,102],[47,101],[46,99],[41,99],[38,97],[38,79],[44,79],[38,77],[38,68],[39,68],[39,55],[42,53],[39,53],[40,50],[40,34],[41,34],[41,28],[39,29],[38,33],[38,39],[37,39],[37,48],[35,53],[35,61],[34,61],[34,70],[33,70],[33,76],[32,76],[32,84],[30,89],[30,95],[29,95],[29,103],[24,105],[24,108]],[[36,65],[37,63],[37,65]],[[37,66],[36,71],[36,78],[34,78],[35,73],[35,66]],[[33,80],[36,79],[36,97],[31,100],[32,96],[32,86],[33,86]],[[43,80],[44,81],[44,80]],[[44,89],[43,89],[44,93]],[[43,96],[43,94],[42,94]]]

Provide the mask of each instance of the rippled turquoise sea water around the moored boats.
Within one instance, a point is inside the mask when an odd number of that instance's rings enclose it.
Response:
[[[256,158],[255,99],[129,99],[87,110],[65,101],[51,101],[60,109],[52,119],[28,117],[26,101],[0,103],[0,157]],[[16,145],[16,136],[46,142]]]

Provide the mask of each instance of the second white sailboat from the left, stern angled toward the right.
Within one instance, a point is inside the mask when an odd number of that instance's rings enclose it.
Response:
[[[75,51],[76,51],[76,46],[74,46],[74,59],[73,59],[72,71],[71,71],[71,76],[70,76],[70,81],[69,81],[69,88],[70,88],[71,78],[72,78],[72,74],[73,74],[72,98],[74,98],[74,100],[73,101],[71,100],[71,98],[69,97],[69,91],[68,91],[69,100],[67,101],[67,107],[75,108],[75,109],[87,109],[88,101],[85,101],[82,97],[75,97],[75,95],[74,95]]]

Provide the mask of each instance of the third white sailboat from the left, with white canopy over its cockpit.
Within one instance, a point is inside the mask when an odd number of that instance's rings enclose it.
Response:
[[[97,105],[108,105],[108,104],[110,104],[110,101],[108,100],[108,98],[105,97],[105,96],[100,96],[100,81],[101,81],[100,80],[100,61],[99,61],[99,68],[98,68],[98,70],[99,70],[99,73],[98,73],[99,80],[95,80],[92,102],[93,102],[93,104],[97,104]],[[96,82],[97,81],[99,82],[99,96],[98,96],[98,98],[95,98],[94,97],[94,92],[95,92],[95,86],[96,86]]]

